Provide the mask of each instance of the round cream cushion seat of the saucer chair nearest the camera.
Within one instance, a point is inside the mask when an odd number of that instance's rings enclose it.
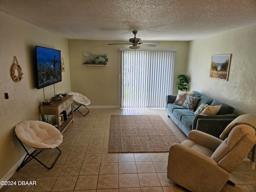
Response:
[[[60,131],[42,121],[24,121],[15,126],[16,136],[33,148],[55,148],[63,140]]]

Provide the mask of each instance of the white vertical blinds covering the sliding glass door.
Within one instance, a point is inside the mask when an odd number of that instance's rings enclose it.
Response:
[[[124,108],[164,108],[172,94],[176,50],[122,50],[122,104]]]

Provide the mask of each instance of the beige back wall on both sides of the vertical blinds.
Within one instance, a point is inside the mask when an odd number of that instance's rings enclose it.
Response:
[[[68,40],[72,91],[91,100],[90,106],[120,106],[120,51],[122,45],[107,45],[121,41]],[[174,76],[185,73],[188,42],[160,42],[157,48],[177,48]],[[84,52],[107,54],[106,66],[83,66]],[[177,92],[174,86],[174,93]]]

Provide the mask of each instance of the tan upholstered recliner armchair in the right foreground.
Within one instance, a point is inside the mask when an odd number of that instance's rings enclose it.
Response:
[[[252,148],[255,166],[255,134],[256,116],[250,114],[227,126],[220,136],[225,140],[192,130],[187,140],[170,147],[167,177],[192,192],[219,192]]]

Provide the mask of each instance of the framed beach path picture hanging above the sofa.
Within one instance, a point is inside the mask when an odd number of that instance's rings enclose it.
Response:
[[[212,55],[210,78],[228,80],[231,54]]]

